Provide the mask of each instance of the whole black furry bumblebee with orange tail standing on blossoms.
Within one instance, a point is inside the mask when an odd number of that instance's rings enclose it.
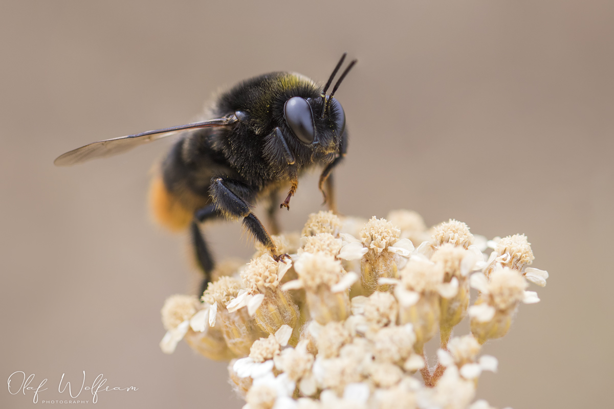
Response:
[[[216,218],[242,220],[243,226],[279,261],[270,234],[252,212],[259,199],[268,198],[271,231],[278,233],[274,212],[278,193],[289,185],[280,208],[290,209],[298,177],[321,167],[319,189],[333,211],[332,170],[348,150],[343,107],[333,97],[356,60],[349,63],[328,88],[346,58],[341,56],[322,88],[294,72],[271,72],[238,83],[220,94],[209,118],[172,128],[157,129],[101,140],[64,153],[56,166],[71,166],[117,155],[138,145],[180,134],[160,172],[153,178],[151,204],[158,222],[173,231],[189,229],[203,290],[211,280],[214,261],[200,223]]]

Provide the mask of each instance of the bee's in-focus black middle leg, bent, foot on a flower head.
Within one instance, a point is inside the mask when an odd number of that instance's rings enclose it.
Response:
[[[274,258],[286,258],[287,254],[277,254],[271,236],[260,223],[260,220],[252,213],[249,200],[255,197],[257,191],[243,182],[226,177],[214,177],[211,180],[209,194],[213,199],[216,211],[233,220],[243,218],[243,226],[246,227],[258,242],[262,243],[273,253]]]

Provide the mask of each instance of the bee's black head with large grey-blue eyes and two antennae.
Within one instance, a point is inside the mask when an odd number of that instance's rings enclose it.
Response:
[[[319,98],[293,96],[284,105],[284,120],[288,128],[303,145],[311,147],[317,156],[338,153],[341,136],[345,131],[345,112],[333,95],[343,78],[356,64],[356,60],[352,61],[341,74],[330,95],[326,95],[345,57],[344,53]]]

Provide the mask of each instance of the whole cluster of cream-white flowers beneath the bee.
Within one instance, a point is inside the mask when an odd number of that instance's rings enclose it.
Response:
[[[320,212],[302,237],[274,237],[290,260],[259,248],[244,266],[220,266],[202,302],[166,301],[162,350],[185,338],[230,361],[244,409],[490,408],[473,402],[478,377],[497,370],[481,346],[507,334],[521,302],[539,301],[528,281],[545,286],[548,273],[526,267],[524,235],[486,240],[456,220],[427,229],[405,210],[388,219]],[[471,334],[453,337],[465,316]]]

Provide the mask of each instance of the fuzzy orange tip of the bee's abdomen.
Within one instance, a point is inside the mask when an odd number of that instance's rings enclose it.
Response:
[[[152,180],[149,202],[155,220],[171,231],[185,230],[193,219],[193,212],[168,191],[160,175]]]

